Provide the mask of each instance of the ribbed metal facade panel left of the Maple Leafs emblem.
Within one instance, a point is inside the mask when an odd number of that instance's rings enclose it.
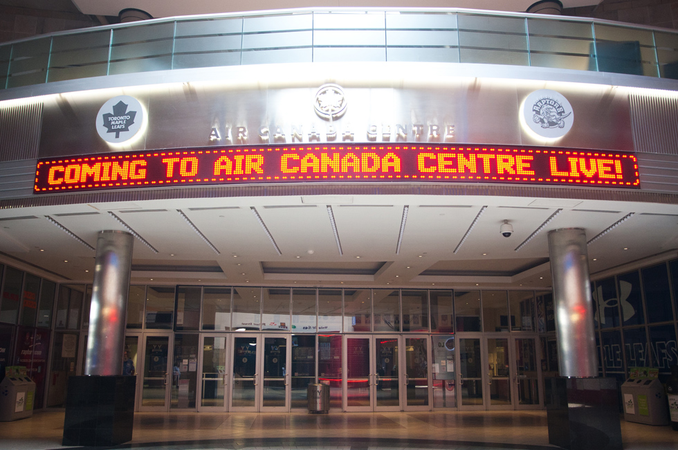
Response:
[[[0,108],[0,161],[37,158],[42,101]]]

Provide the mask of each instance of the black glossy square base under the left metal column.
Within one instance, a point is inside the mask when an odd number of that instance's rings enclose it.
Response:
[[[132,438],[136,376],[68,379],[62,445],[111,447]]]

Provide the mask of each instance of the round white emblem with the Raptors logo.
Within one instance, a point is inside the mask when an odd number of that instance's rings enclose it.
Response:
[[[574,111],[567,98],[551,89],[540,89],[527,96],[522,114],[526,125],[544,138],[562,138],[574,123]]]

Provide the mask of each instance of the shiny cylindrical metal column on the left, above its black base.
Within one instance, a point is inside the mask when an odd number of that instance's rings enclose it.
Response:
[[[92,285],[85,375],[121,375],[134,237],[101,231]]]

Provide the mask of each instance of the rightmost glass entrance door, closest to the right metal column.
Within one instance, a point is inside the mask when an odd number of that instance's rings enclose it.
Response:
[[[537,338],[513,337],[511,341],[515,360],[515,408],[538,409],[542,404],[539,382],[542,375],[537,364]]]

